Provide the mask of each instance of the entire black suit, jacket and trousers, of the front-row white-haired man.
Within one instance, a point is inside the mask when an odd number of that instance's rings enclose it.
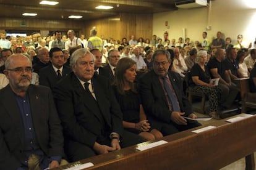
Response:
[[[109,134],[116,132],[122,139],[121,146],[137,144],[123,133],[122,113],[106,78],[92,78],[96,100],[92,99],[74,73],[59,81],[53,89],[54,99],[64,127],[65,150],[70,161],[96,155],[92,150],[95,142],[109,145]],[[139,138],[141,139],[141,138]],[[125,144],[127,142],[127,144]]]

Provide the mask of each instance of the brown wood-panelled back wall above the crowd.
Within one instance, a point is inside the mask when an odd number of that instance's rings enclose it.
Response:
[[[88,20],[80,22],[79,20],[36,20],[20,18],[0,18],[0,30],[20,30],[31,32],[29,30],[60,30],[66,32],[69,29],[75,30],[77,34],[90,36],[90,30],[93,26],[98,31],[98,36],[104,35],[105,38],[128,40],[131,35],[136,39],[140,36],[150,38],[153,29],[152,14],[128,14],[122,13],[114,17],[101,18],[98,20]]]

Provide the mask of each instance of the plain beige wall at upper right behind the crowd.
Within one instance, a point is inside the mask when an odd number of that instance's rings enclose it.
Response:
[[[221,31],[223,38],[229,36],[233,42],[236,41],[237,34],[243,34],[244,41],[255,41],[256,9],[245,6],[245,1],[248,0],[214,0],[209,7],[154,14],[153,34],[163,38],[164,31],[168,31],[169,39],[175,38],[177,41],[179,36],[183,36],[182,29],[186,28],[186,37],[201,42],[205,27],[211,26],[211,30],[207,31],[209,39],[214,38],[217,31]],[[165,26],[166,21],[169,29]]]

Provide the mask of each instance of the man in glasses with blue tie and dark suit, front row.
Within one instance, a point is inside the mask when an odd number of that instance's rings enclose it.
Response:
[[[200,126],[182,116],[196,118],[185,97],[179,74],[169,71],[171,58],[168,51],[159,49],[153,54],[153,70],[139,79],[139,93],[148,120],[164,136]]]

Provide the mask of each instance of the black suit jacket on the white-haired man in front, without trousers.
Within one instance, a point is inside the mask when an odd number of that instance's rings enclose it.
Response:
[[[123,131],[121,109],[108,79],[94,75],[92,84],[105,124],[101,123],[99,113],[93,109],[90,98],[73,72],[59,81],[53,89],[66,140],[73,140],[89,147],[93,147],[100,136],[101,127],[109,129],[109,134],[117,132],[122,135]]]

